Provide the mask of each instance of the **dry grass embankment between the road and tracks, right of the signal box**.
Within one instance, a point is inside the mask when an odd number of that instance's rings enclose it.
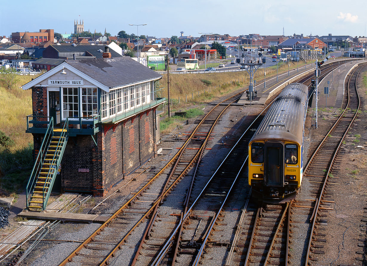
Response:
[[[307,61],[307,65],[312,60]],[[208,64],[207,64],[208,67]],[[298,63],[298,69],[304,67],[304,62]],[[290,70],[297,69],[297,62],[290,62]],[[280,63],[278,65],[278,73],[288,71],[287,63]],[[277,74],[277,66],[266,68],[266,79],[269,79]],[[197,104],[205,104],[213,101],[215,98],[221,97],[232,91],[240,88],[247,89],[249,82],[249,75],[246,71],[240,72],[224,72],[224,73],[201,73],[201,74],[184,74],[171,76],[170,96],[172,99],[171,112],[177,110],[185,110],[189,106]],[[264,81],[264,69],[258,69],[254,75],[257,83]],[[220,85],[220,86],[219,86]],[[160,87],[162,90],[162,97],[167,98],[167,74],[163,74],[163,79],[160,80]],[[187,103],[186,103],[187,98]],[[178,99],[180,102],[178,103]],[[162,116],[167,116],[167,104],[163,106],[165,111]],[[183,118],[172,116],[170,119],[165,118],[160,123],[160,130],[162,134],[172,132],[176,127],[183,123]]]

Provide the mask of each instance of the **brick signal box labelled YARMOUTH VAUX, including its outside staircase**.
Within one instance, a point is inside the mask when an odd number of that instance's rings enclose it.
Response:
[[[45,209],[52,186],[105,193],[155,156],[161,75],[130,57],[65,60],[22,86],[32,89],[27,132],[36,154],[29,209]]]

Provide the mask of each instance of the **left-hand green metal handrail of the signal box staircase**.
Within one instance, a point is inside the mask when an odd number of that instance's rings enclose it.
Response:
[[[32,115],[30,115],[32,116]],[[27,116],[27,121],[28,121],[28,117]],[[47,116],[44,116],[44,117],[47,117]],[[51,130],[50,130],[51,129]],[[37,155],[37,158],[36,158],[36,161],[34,162],[34,166],[33,166],[33,169],[32,169],[32,172],[30,173],[30,177],[29,177],[29,180],[28,180],[28,183],[27,183],[27,186],[26,186],[26,194],[27,194],[27,198],[26,198],[26,207],[28,209],[29,207],[29,204],[28,204],[28,196],[30,194],[30,189],[29,189],[29,184],[32,180],[32,186],[34,185],[34,181],[36,180],[36,175],[37,173],[39,173],[39,170],[40,170],[40,166],[43,165],[43,159],[44,159],[44,151],[46,150],[47,151],[47,148],[44,147],[47,143],[49,143],[49,139],[50,137],[47,137],[47,134],[48,136],[51,136],[53,137],[54,135],[54,118],[51,116],[51,119],[50,121],[48,122],[48,126],[47,126],[47,129],[46,129],[46,133],[45,133],[45,136],[42,140],[42,143],[41,143],[41,146],[40,146],[40,150],[38,152],[38,155]],[[45,141],[47,139],[47,141]],[[43,148],[44,147],[44,148]],[[48,147],[48,146],[47,146]],[[38,162],[38,163],[37,163]],[[35,168],[37,166],[37,169],[35,171]],[[33,176],[33,179],[32,179],[32,176]]]

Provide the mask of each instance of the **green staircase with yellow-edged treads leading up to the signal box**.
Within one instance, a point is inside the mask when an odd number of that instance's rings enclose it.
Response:
[[[27,184],[26,204],[30,211],[46,209],[68,141],[68,131],[68,119],[66,119],[62,129],[54,129],[54,122],[51,117]]]

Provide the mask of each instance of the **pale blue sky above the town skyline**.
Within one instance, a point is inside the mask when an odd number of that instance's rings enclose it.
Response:
[[[171,37],[200,36],[198,32],[228,33],[238,36],[261,35],[350,35],[363,36],[366,28],[366,2],[346,1],[1,1],[0,35],[11,32],[37,32],[54,29],[74,31],[74,19],[84,19],[84,30],[111,35],[120,30],[139,35]],[[103,4],[105,3],[105,5]],[[261,3],[261,4],[259,4]],[[329,4],[331,3],[331,4]],[[80,17],[79,17],[80,15]]]

